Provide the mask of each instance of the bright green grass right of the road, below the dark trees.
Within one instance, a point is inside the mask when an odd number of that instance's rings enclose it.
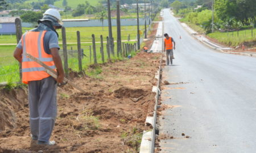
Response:
[[[207,36],[218,40],[228,46],[237,46],[243,42],[256,41],[256,28],[253,29],[253,37],[251,36],[251,29],[234,32],[213,32]]]

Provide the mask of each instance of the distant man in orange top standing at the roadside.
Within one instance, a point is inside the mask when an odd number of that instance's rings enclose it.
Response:
[[[172,49],[175,50],[175,41],[172,37],[169,37],[167,33],[164,34],[164,52],[166,52],[166,65],[172,64],[172,59],[174,59],[174,52]],[[172,45],[174,42],[174,45]]]

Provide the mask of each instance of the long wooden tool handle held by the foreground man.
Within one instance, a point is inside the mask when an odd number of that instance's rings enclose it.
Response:
[[[35,58],[34,56],[31,56],[31,54],[25,53],[25,56],[31,58],[33,61],[35,61],[36,63],[38,63],[39,65],[43,66],[46,70],[46,73],[48,73],[49,75],[51,75],[53,78],[57,79],[57,72],[52,70],[51,67],[47,66],[45,63],[43,63],[42,61],[40,61],[38,58]],[[72,83],[69,79],[64,77],[64,82],[70,84],[71,86],[75,87],[77,90],[81,91],[81,92],[85,92],[84,90],[82,90],[80,87],[76,86],[76,84]]]

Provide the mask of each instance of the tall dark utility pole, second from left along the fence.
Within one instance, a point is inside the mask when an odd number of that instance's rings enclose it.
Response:
[[[117,0],[117,57],[122,54],[121,23],[120,23],[120,1]]]

